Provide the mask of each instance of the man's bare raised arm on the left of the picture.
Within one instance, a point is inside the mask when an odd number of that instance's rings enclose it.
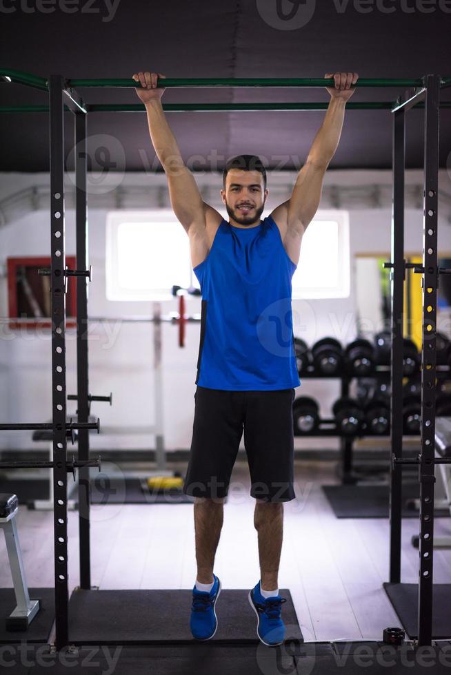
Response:
[[[141,83],[135,91],[146,105],[150,138],[168,178],[172,210],[186,232],[192,233],[193,229],[205,227],[206,215],[211,207],[203,202],[194,176],[183,163],[179,146],[166,120],[161,105],[164,89],[157,87],[158,78],[164,77],[154,72],[133,75],[133,79]]]

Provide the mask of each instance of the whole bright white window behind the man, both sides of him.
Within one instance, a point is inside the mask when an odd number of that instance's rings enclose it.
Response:
[[[228,220],[225,212],[220,213]],[[190,241],[172,209],[110,211],[106,225],[108,300],[171,300],[173,285],[199,289]],[[347,298],[349,293],[348,213],[319,211],[302,239],[292,298]]]

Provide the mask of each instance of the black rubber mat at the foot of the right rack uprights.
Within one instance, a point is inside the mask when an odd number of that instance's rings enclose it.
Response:
[[[394,611],[410,638],[418,637],[418,584],[383,583]],[[432,591],[432,637],[451,638],[451,584],[434,583]],[[451,659],[450,659],[451,661]],[[451,663],[450,663],[451,667]],[[451,672],[451,670],[449,670]]]

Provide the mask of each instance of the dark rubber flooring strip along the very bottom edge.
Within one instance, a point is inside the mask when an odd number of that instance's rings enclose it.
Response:
[[[47,645],[46,645],[47,647]],[[28,645],[31,668],[14,669],[14,675],[449,675],[451,645],[392,647],[378,642],[306,643],[293,650],[291,641],[280,647],[218,645],[213,641],[192,645],[129,647],[92,645],[42,652],[46,647]],[[39,651],[38,651],[39,650]],[[39,654],[39,652],[41,652]],[[8,658],[14,658],[8,653]],[[3,671],[0,671],[3,672]],[[5,672],[11,672],[11,669]]]

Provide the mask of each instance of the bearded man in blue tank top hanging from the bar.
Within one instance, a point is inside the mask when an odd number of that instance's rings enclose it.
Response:
[[[197,579],[190,628],[199,640],[209,640],[217,631],[221,582],[213,573],[214,557],[244,431],[261,570],[248,597],[261,642],[280,645],[285,637],[281,606],[286,601],[278,588],[283,502],[296,497],[292,403],[300,384],[291,279],[358,75],[325,74],[333,77],[334,86],[326,87],[330,103],[323,123],[292,196],[264,220],[268,189],[261,160],[253,155],[228,160],[221,189],[228,222],[203,201],[183,163],[161,105],[164,77],[155,72],[133,75],[141,85],[135,91],[146,106],[150,138],[168,178],[172,209],[188,234],[202,291],[194,424],[183,486],[183,492],[194,497]]]

